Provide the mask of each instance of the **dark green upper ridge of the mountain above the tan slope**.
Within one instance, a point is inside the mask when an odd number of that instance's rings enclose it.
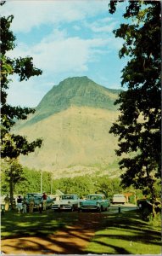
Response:
[[[119,92],[103,87],[86,76],[64,79],[43,96],[36,107],[36,113],[31,115],[25,125],[34,124],[73,105],[117,110],[114,102]]]

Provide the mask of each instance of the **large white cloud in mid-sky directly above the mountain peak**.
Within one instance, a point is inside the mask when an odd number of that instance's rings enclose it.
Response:
[[[31,55],[36,67],[42,68],[46,74],[75,73],[87,71],[88,62],[92,61],[94,55],[100,55],[103,47],[108,43],[109,39],[102,38],[67,38],[65,32],[59,33],[57,30],[56,34],[53,33],[42,39],[40,44],[30,48],[20,44],[19,48],[15,48],[8,55],[10,57]]]

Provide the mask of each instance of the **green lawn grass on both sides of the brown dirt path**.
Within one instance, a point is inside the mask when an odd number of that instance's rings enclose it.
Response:
[[[49,236],[67,225],[78,224],[78,212],[47,212],[18,214],[5,212],[1,219],[2,239],[23,236]],[[85,218],[87,218],[85,212]],[[136,210],[121,213],[102,212],[100,228],[89,242],[84,254],[160,254],[160,217],[153,222],[142,221]],[[153,225],[154,224],[154,225]]]

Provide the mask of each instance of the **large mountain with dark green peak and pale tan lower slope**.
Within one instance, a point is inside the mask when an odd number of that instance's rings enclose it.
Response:
[[[114,105],[120,90],[111,90],[87,77],[64,79],[53,86],[36,107],[36,113],[15,127],[15,132],[42,148],[20,158],[25,166],[53,172],[54,177],[118,170],[116,138],[109,128],[118,111]]]

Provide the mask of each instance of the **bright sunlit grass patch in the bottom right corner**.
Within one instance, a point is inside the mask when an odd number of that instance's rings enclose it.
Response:
[[[129,230],[107,229],[98,231],[87,247],[87,252],[106,254],[159,254],[159,239],[150,241],[148,237],[137,236]]]

